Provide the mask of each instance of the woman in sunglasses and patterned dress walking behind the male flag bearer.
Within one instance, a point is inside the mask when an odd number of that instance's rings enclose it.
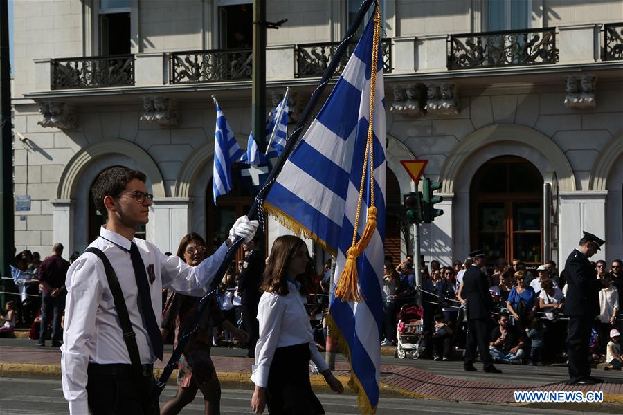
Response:
[[[206,242],[199,234],[190,233],[183,237],[179,243],[177,256],[186,261],[186,264],[197,266],[206,256]],[[179,359],[177,372],[179,389],[177,389],[177,394],[165,403],[161,409],[161,415],[179,414],[183,407],[195,399],[197,390],[201,390],[201,394],[204,395],[204,414],[220,414],[221,385],[210,358],[210,347],[212,346],[210,320],[215,326],[222,324],[224,329],[241,340],[246,340],[247,335],[226,320],[219,308],[216,295],[211,295],[208,301],[208,307],[199,320],[197,331],[186,345],[183,356]],[[189,297],[174,292],[169,295],[163,311],[161,329],[163,338],[167,337],[170,327],[174,326],[175,344],[177,345],[180,331],[186,322],[192,320],[192,315],[197,311],[198,302],[199,297]]]

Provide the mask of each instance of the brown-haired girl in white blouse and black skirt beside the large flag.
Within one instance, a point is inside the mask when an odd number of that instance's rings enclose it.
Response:
[[[317,415],[325,410],[311,390],[309,360],[337,393],[344,388],[318,352],[311,333],[305,294],[311,286],[307,275],[307,246],[291,235],[278,237],[264,270],[258,308],[260,339],[255,346],[251,380],[255,391],[251,407],[256,414],[268,405],[271,415]]]

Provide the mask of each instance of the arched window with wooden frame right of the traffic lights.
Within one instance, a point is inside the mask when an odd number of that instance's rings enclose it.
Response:
[[[521,157],[496,157],[482,165],[470,187],[472,249],[485,249],[491,263],[503,258],[540,264],[542,189],[541,173]]]

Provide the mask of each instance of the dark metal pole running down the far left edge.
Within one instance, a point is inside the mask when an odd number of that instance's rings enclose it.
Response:
[[[11,133],[11,74],[9,61],[9,32],[8,32],[8,1],[0,1],[0,127],[2,130],[2,156],[0,157],[0,172],[2,172],[2,187],[0,189],[0,274],[9,277],[10,259],[14,244],[13,234],[13,171],[12,171],[12,143]],[[5,279],[0,280],[0,291],[6,291]],[[0,294],[0,303],[4,308],[5,295]]]

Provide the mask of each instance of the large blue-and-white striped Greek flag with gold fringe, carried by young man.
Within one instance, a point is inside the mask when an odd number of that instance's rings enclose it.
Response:
[[[370,21],[323,109],[289,156],[266,199],[267,210],[278,221],[336,252],[335,285],[352,243],[368,136],[373,28]],[[352,366],[352,383],[359,387],[359,405],[364,413],[372,414],[379,400],[385,237],[385,109],[380,48],[376,79],[373,127],[377,228],[356,261],[365,301],[354,304],[332,297],[329,308],[338,329],[338,343]],[[369,180],[365,182],[359,235],[368,211]]]

